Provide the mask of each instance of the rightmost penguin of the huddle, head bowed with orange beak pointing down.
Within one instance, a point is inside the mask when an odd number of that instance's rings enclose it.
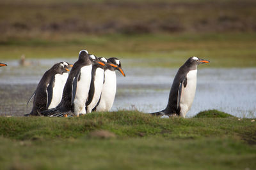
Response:
[[[102,58],[99,59],[103,60]],[[93,108],[93,111],[109,111],[112,108],[116,95],[116,69],[125,76],[120,60],[115,57],[109,58],[104,71],[100,101]]]

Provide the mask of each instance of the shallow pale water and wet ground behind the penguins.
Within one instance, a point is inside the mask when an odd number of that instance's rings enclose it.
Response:
[[[31,60],[31,66],[21,67],[18,60],[4,61],[0,69],[0,115],[29,113],[32,103],[26,103],[44,72],[63,59]],[[76,59],[67,60],[74,63]],[[139,110],[145,113],[166,107],[170,87],[178,68],[131,67],[123,60],[124,78],[117,73],[117,93],[112,110]],[[216,109],[237,117],[256,117],[256,67],[198,68],[195,100],[188,112]]]

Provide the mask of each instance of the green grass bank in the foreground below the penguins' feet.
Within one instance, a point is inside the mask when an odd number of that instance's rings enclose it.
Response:
[[[208,114],[186,119],[161,119],[137,111],[79,118],[0,117],[0,165],[4,169],[253,169],[255,122]]]

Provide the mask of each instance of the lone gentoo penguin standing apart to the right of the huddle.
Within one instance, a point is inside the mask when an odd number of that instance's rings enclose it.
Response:
[[[197,66],[208,62],[209,60],[190,57],[183,66],[179,68],[173,80],[166,108],[151,114],[164,117],[176,115],[183,118],[186,117],[186,113],[188,113],[191,108],[195,97]]]

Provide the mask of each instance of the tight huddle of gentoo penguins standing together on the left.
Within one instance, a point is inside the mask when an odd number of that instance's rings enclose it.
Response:
[[[125,76],[119,59],[98,58],[81,50],[74,65],[60,62],[44,73],[28,101],[34,97],[32,111],[26,116],[79,117],[109,111],[116,94],[115,70]]]

